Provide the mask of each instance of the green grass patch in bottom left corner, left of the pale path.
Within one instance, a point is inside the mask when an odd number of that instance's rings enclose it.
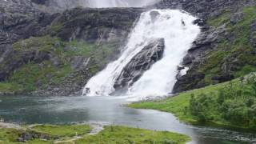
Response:
[[[89,134],[89,125],[38,125],[33,127],[22,126],[22,130],[6,129],[0,127],[0,144],[18,143],[54,143],[56,139],[74,138],[74,136],[85,136]],[[22,134],[37,134],[47,136],[49,139],[32,138],[27,142],[18,142]]]

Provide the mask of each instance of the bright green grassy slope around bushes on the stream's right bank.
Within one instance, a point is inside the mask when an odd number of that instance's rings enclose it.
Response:
[[[234,89],[241,88],[242,82],[240,79],[234,79],[231,82],[225,82],[218,85],[212,85],[212,86],[206,86],[205,88],[198,89],[198,90],[190,90],[187,92],[184,92],[182,94],[178,94],[177,96],[166,98],[164,100],[158,100],[158,101],[151,101],[151,102],[135,102],[130,104],[129,106],[132,108],[140,108],[140,109],[154,109],[154,110],[162,110],[166,112],[170,112],[175,114],[181,121],[183,122],[189,122],[191,124],[195,125],[207,125],[207,126],[225,126],[229,128],[236,128],[236,129],[246,129],[246,130],[255,130],[254,125],[246,124],[243,122],[238,122],[238,124],[234,122],[230,122],[229,120],[226,120],[223,118],[223,112],[221,109],[218,109],[218,94],[220,90],[223,90],[224,87],[230,87],[232,85]],[[244,86],[245,91],[249,90],[249,87]],[[211,103],[207,103],[207,105],[210,107],[207,108],[206,111],[204,111],[207,115],[210,115],[210,119],[207,119],[206,122],[200,122],[198,120],[198,117],[190,112],[190,100],[191,100],[191,94],[194,95],[195,99],[200,99],[204,95],[209,95],[209,97],[213,100]],[[240,97],[240,96],[239,96]],[[253,95],[252,98],[255,99],[255,96]],[[248,98],[245,98],[244,95],[242,95],[240,98],[226,98],[224,102],[241,102],[246,103]],[[204,102],[204,101],[203,101]],[[201,103],[203,103],[201,102]],[[199,102],[200,103],[200,102]],[[235,108],[242,108],[242,106],[237,106]],[[201,108],[198,108],[198,111]],[[232,108],[231,108],[232,109]],[[242,112],[242,110],[238,110],[238,112]]]

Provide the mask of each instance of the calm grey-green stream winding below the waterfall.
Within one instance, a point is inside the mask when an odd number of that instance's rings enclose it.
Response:
[[[1,96],[0,118],[26,124],[65,124],[98,122],[134,126],[150,130],[168,130],[189,135],[193,144],[255,143],[256,134],[190,126],[173,114],[156,110],[135,110],[123,106],[122,97],[37,97]]]

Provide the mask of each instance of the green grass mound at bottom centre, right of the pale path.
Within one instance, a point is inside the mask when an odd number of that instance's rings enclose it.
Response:
[[[125,126],[105,126],[99,134],[82,138],[75,143],[90,144],[147,144],[147,143],[175,143],[182,144],[190,141],[190,138],[182,134],[174,134],[167,131],[142,130]]]

